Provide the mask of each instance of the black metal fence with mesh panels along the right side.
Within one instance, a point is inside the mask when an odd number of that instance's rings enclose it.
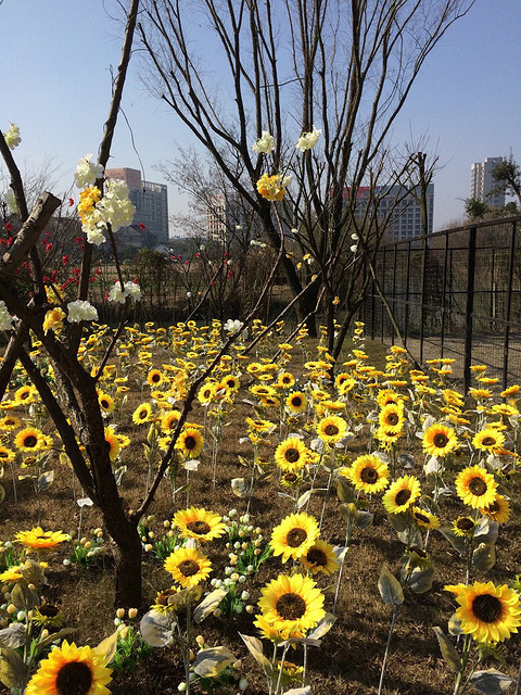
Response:
[[[419,363],[456,357],[465,389],[473,364],[504,388],[521,380],[521,217],[387,243],[374,269],[363,306],[371,338],[397,338],[383,294]]]

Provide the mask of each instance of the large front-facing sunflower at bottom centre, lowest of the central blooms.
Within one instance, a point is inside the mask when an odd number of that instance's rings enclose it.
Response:
[[[260,591],[263,617],[276,630],[309,630],[326,615],[323,594],[313,579],[279,574]]]

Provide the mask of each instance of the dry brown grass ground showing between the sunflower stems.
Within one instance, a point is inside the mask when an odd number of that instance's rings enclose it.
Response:
[[[368,348],[371,352],[371,348]],[[380,346],[374,346],[374,359],[382,358]],[[140,395],[134,394],[126,408],[131,412],[139,403]],[[192,473],[193,485],[190,490],[190,504],[211,508],[226,514],[231,507],[242,513],[244,500],[237,498],[230,488],[230,480],[244,475],[240,466],[238,454],[243,452],[239,438],[244,434],[244,417],[252,414],[251,406],[237,400],[238,407],[231,416],[231,425],[225,429],[218,459],[218,478],[215,490],[212,485],[212,470],[209,453],[201,456],[201,466],[196,473]],[[202,421],[202,410],[196,406],[190,416],[192,420]],[[128,418],[127,418],[128,420]],[[122,483],[122,495],[129,507],[137,505],[143,494],[147,465],[142,455],[147,428],[138,429],[130,425],[120,428],[132,439],[131,446],[124,454],[124,463],[128,472]],[[262,452],[263,456],[272,456],[272,446]],[[350,445],[352,456],[367,446],[364,437]],[[420,473],[423,456],[417,456],[417,473]],[[55,470],[54,483],[42,496],[41,522],[46,529],[63,529],[77,534],[79,508],[71,486],[71,471],[53,464]],[[323,482],[323,481],[322,481]],[[0,506],[2,539],[13,538],[21,529],[28,529],[36,525],[35,493],[29,481],[17,483],[18,502],[13,502],[12,483],[4,476],[3,484],[7,497]],[[268,481],[254,491],[251,506],[252,522],[263,529],[265,539],[269,539],[272,527],[287,514],[293,511],[291,501],[278,498],[281,489],[272,481]],[[518,490],[519,492],[519,490]],[[77,495],[80,496],[80,495]],[[185,497],[180,495],[178,506],[185,506]],[[321,500],[313,498],[310,513],[320,516]],[[501,528],[497,542],[497,564],[487,579],[504,583],[513,579],[516,572],[521,571],[521,541],[519,503],[512,501],[513,514],[510,523]],[[378,577],[383,565],[395,574],[399,572],[399,558],[403,545],[396,533],[390,527],[380,502],[371,503],[374,523],[365,531],[356,531],[347,555],[338,621],[329,634],[323,639],[322,646],[309,650],[309,680],[314,695],[373,695],[378,691],[381,662],[387,639],[391,620],[391,608],[384,605],[378,592]],[[157,535],[163,531],[163,520],[171,519],[173,502],[170,489],[165,481],[160,488],[152,513],[155,521],[151,523]],[[445,521],[448,519],[444,519]],[[100,517],[94,508],[84,508],[82,528],[85,530],[101,526]],[[325,527],[321,536],[333,544],[343,544],[345,533],[344,519],[339,513],[339,501],[334,494],[328,501]],[[214,576],[223,577],[227,555],[225,541],[214,541],[208,548],[214,564]],[[457,553],[440,535],[434,533],[430,552],[436,565],[436,579],[430,592],[417,595],[406,591],[406,598],[401,608],[393,637],[384,693],[386,695],[440,695],[452,693],[454,674],[444,665],[437,641],[432,631],[433,626],[442,626],[446,630],[447,620],[453,611],[452,601],[443,592],[445,583],[462,581],[463,564]],[[67,617],[68,624],[77,628],[75,636],[77,643],[94,645],[114,630],[113,601],[113,565],[109,555],[102,556],[91,569],[65,567],[62,564],[68,557],[68,549],[63,547],[52,556],[48,571],[49,587],[46,598],[50,603],[61,605]],[[269,578],[276,577],[283,570],[278,558],[268,559],[262,566],[258,574],[249,580],[247,589],[252,593],[252,603],[256,603],[259,590]],[[483,580],[480,572],[476,579]],[[321,587],[328,592],[328,580],[319,580]],[[150,554],[143,561],[144,609],[149,606],[156,592],[169,586],[170,579],[162,564]],[[332,594],[327,593],[327,607],[331,608]],[[251,693],[266,692],[265,682],[258,666],[247,655],[238,632],[255,634],[252,616],[243,612],[234,620],[223,620],[209,617],[202,626],[201,632],[209,644],[227,645],[238,658],[243,659],[243,669],[247,675]],[[498,666],[500,670],[516,674],[519,662],[519,640],[512,639],[508,647],[503,649],[506,664]],[[300,661],[302,655],[291,655],[291,660]],[[485,662],[486,664],[486,662]],[[481,668],[486,668],[482,666]],[[182,666],[179,655],[170,649],[155,649],[144,661],[140,662],[132,673],[120,672],[112,684],[114,695],[139,693],[140,695],[170,695],[177,693],[178,683],[183,680]],[[7,691],[5,691],[7,692]],[[195,692],[200,692],[195,688]],[[237,687],[219,692],[236,693]]]

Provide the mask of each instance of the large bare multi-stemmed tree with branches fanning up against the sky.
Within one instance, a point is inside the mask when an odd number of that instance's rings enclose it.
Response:
[[[404,178],[394,170],[391,127],[425,59],[472,4],[145,0],[139,33],[150,88],[212,154],[275,249],[284,225],[255,184],[266,168],[294,174],[277,213],[298,230],[316,264],[317,279],[306,285],[294,260],[283,257],[301,319],[313,323],[322,298],[330,328],[342,309],[345,337],[361,301],[364,257],[385,229],[378,200],[360,208],[356,192]],[[314,126],[322,130],[319,144],[296,154],[296,138]],[[275,138],[269,157],[252,152],[264,130]],[[338,354],[341,342],[330,348]]]

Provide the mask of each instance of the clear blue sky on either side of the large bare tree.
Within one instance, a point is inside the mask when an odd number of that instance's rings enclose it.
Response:
[[[187,0],[188,1],[188,0]],[[15,155],[21,169],[37,172],[51,161],[54,192],[73,181],[79,157],[97,152],[111,98],[111,65],[117,67],[123,26],[114,0],[3,0],[0,4],[2,108],[0,128],[21,128]],[[396,143],[427,134],[443,168],[435,184],[434,228],[462,216],[470,194],[470,165],[486,156],[521,160],[519,0],[478,0],[428,58],[393,130]],[[189,135],[154,100],[131,66],[124,110],[149,180],[154,166],[176,156]],[[316,124],[318,125],[318,124]],[[119,121],[112,166],[140,168],[130,132]],[[170,212],[186,200],[169,187]],[[175,230],[170,229],[170,233]]]

